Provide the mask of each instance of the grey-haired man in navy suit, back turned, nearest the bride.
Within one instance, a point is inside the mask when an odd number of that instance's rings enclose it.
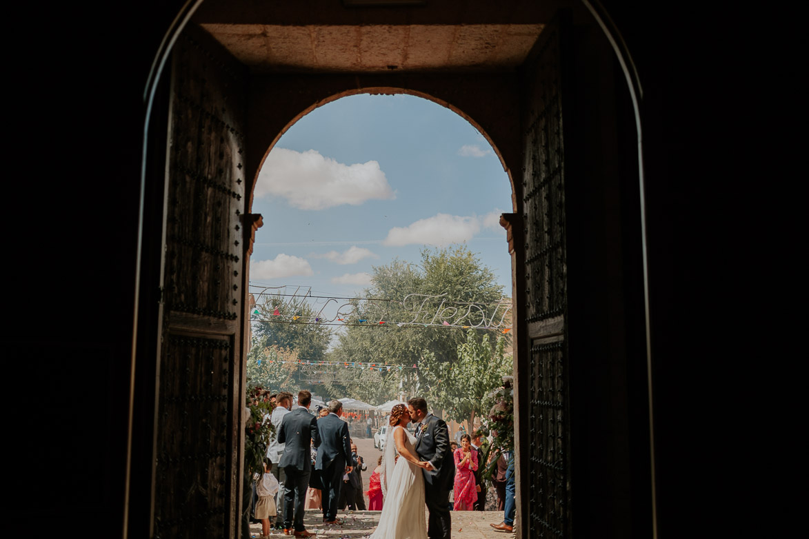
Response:
[[[317,422],[320,448],[317,450],[315,470],[322,470],[323,521],[326,524],[341,524],[337,520],[337,503],[340,500],[343,474],[350,474],[353,470],[349,424],[340,419],[341,415],[343,403],[332,400],[328,402],[328,415]]]

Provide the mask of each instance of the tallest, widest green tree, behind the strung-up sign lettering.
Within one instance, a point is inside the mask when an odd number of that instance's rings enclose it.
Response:
[[[345,375],[328,383],[328,389],[374,403],[400,394],[423,393],[424,380],[412,368],[420,365],[422,358],[430,357],[434,365],[453,363],[460,345],[470,339],[493,353],[495,338],[501,335],[498,330],[485,329],[467,335],[460,329],[436,326],[437,314],[446,315],[463,304],[494,305],[502,298],[494,273],[466,246],[425,249],[418,264],[395,259],[374,267],[371,286],[362,299],[354,301],[345,320],[352,325],[340,335],[330,359],[402,368],[359,374],[357,369],[346,369]],[[400,327],[388,322],[409,323]]]

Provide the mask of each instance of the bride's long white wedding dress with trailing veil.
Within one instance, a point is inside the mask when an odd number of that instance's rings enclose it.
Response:
[[[388,492],[383,502],[382,515],[379,517],[379,526],[371,539],[427,539],[424,476],[421,474],[421,468],[404,457],[391,466],[396,452],[393,432],[396,432],[397,428],[404,427],[396,425],[391,432],[388,432],[388,441],[385,442],[386,464],[385,470],[380,475],[383,482],[387,480]],[[416,439],[406,428],[404,434],[407,437],[405,440],[407,448],[415,455],[413,444]],[[392,449],[390,453],[388,448]]]

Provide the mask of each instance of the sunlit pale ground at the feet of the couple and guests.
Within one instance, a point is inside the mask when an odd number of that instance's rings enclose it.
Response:
[[[340,525],[323,524],[323,512],[311,509],[306,512],[303,523],[317,537],[333,539],[360,539],[374,533],[379,523],[379,511],[341,511],[337,516],[343,523]],[[503,520],[502,511],[454,511],[452,517],[452,536],[464,539],[506,539],[515,537],[514,533],[502,533],[493,530],[489,524],[499,524]],[[260,537],[261,524],[250,525],[250,535]],[[270,537],[285,537],[282,530],[272,530]],[[390,539],[395,539],[391,537]]]

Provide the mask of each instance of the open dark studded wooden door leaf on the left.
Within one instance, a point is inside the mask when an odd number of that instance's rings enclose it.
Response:
[[[244,73],[207,38],[171,67],[154,537],[239,532]]]

